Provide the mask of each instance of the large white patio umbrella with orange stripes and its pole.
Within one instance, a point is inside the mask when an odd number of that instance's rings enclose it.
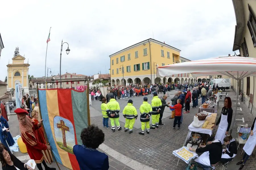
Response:
[[[247,76],[256,76],[256,58],[232,56],[208,58],[168,66],[159,66],[156,72],[157,77],[189,77],[190,74],[193,77],[227,75],[237,80],[238,89],[240,79]],[[238,100],[238,93],[236,98]],[[231,133],[236,118],[237,100]]]

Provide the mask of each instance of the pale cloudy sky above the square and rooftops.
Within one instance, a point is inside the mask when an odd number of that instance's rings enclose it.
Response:
[[[62,74],[108,73],[109,55],[148,38],[172,45],[190,60],[232,52],[236,18],[231,0],[166,1],[5,1],[0,33],[5,48],[0,79],[7,75],[15,47],[29,59],[29,74],[44,76],[46,40],[51,27],[46,66]],[[154,37],[153,37],[154,32]],[[238,52],[239,53],[239,52]]]

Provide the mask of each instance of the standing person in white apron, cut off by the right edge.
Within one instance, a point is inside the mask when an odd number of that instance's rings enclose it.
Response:
[[[251,126],[251,134],[249,136],[249,138],[247,139],[247,142],[245,143],[245,145],[243,146],[243,150],[244,150],[244,155],[243,155],[243,159],[236,163],[236,165],[241,165],[241,167],[239,168],[239,170],[243,169],[246,161],[248,160],[249,156],[251,155],[251,153],[253,152],[253,149],[255,148],[256,145],[256,117],[253,121],[253,125]]]

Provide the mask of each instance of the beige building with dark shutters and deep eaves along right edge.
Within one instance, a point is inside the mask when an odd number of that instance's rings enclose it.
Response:
[[[242,57],[255,58],[256,53],[256,1],[232,0],[236,15],[235,37],[233,51],[239,50]],[[245,103],[251,109],[251,113],[256,114],[256,79],[248,76],[242,79],[237,89],[237,81],[231,78],[232,88],[244,93]],[[251,99],[251,103],[250,103]]]

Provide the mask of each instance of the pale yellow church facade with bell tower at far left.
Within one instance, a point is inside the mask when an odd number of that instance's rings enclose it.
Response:
[[[12,88],[15,89],[15,84],[20,83],[24,89],[23,94],[29,93],[28,91],[28,63],[24,63],[25,57],[19,54],[19,48],[16,47],[12,64],[7,65],[7,91]]]

